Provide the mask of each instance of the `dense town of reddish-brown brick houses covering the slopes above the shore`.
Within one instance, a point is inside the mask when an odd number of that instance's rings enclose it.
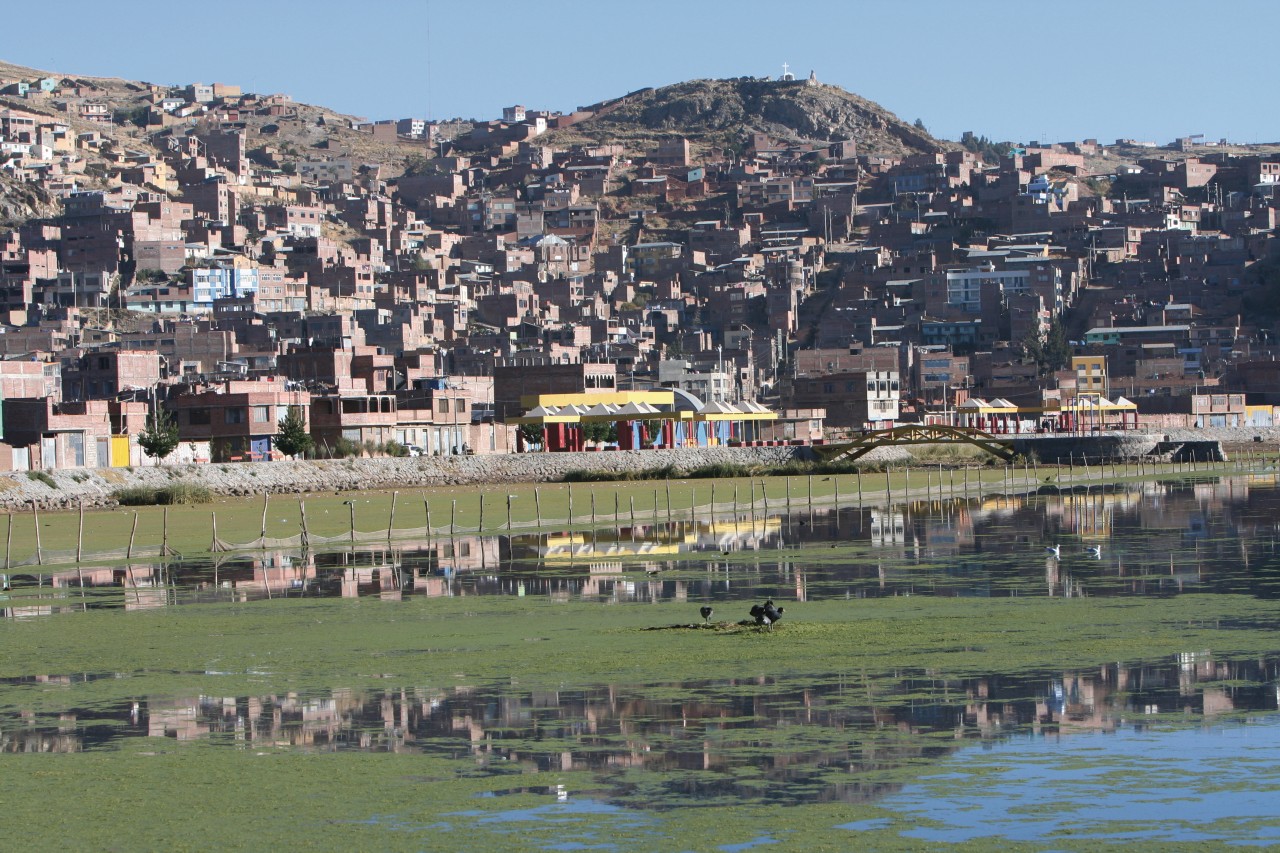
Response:
[[[4,470],[1280,423],[1280,151],[113,83],[0,74]]]

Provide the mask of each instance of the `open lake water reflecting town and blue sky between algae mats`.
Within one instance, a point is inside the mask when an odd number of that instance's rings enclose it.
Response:
[[[416,548],[228,556],[12,578],[5,616],[271,598],[525,596],[644,605],[893,596],[1280,594],[1275,476],[1147,482],[1071,494],[922,502],[599,532],[462,537]],[[1057,548],[1053,553],[1048,548]],[[781,629],[780,629],[781,630]],[[216,676],[216,672],[206,674]],[[605,815],[644,826],[698,806],[874,803],[908,840],[1002,836],[1148,843],[1280,840],[1280,638],[1274,653],[1187,648],[1088,671],[931,671],[767,679],[480,684],[289,694],[151,695],[32,711],[49,683],[0,679],[0,751],[104,749],[132,738],[265,740],[323,752],[417,751],[476,772],[589,771],[582,790],[472,822]],[[870,685],[874,684],[874,690]],[[489,797],[500,799],[502,792]],[[756,843],[785,840],[785,833]]]

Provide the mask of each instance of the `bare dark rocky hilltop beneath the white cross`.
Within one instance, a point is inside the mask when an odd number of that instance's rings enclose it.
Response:
[[[586,109],[595,115],[549,134],[548,143],[618,142],[643,149],[659,138],[685,136],[698,145],[732,147],[759,132],[787,142],[854,140],[859,152],[878,155],[951,146],[838,86],[804,81],[695,79]]]

